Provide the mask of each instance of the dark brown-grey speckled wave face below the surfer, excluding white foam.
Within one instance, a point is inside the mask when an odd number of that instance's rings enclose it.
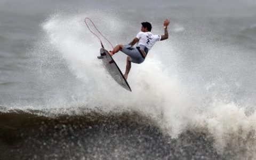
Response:
[[[212,139],[193,130],[164,135],[139,114],[0,114],[1,159],[219,159]],[[33,110],[32,110],[33,112]],[[233,157],[233,156],[230,156]]]

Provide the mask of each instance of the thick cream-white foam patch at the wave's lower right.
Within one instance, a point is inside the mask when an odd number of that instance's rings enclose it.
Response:
[[[256,114],[246,116],[244,108],[237,107],[235,103],[218,103],[212,107],[195,116],[194,125],[214,137],[214,147],[219,153],[230,149],[255,157]]]

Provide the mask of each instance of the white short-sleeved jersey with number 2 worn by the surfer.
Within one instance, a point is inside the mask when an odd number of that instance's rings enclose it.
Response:
[[[161,36],[153,35],[150,33],[150,31],[148,31],[148,32],[140,31],[136,37],[139,39],[137,46],[140,46],[140,45],[146,46],[148,48],[148,50],[150,50],[151,47],[153,47],[153,45],[157,41],[161,40]]]

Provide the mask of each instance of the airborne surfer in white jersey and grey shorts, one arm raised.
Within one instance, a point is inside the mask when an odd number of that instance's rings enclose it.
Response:
[[[149,22],[142,22],[141,31],[128,45],[119,44],[115,46],[113,51],[110,51],[109,54],[113,56],[118,51],[124,52],[127,56],[126,59],[126,70],[124,73],[125,79],[127,79],[128,74],[131,69],[131,62],[133,63],[142,63],[147,57],[148,51],[157,41],[163,41],[168,38],[167,26],[169,25],[170,20],[166,19],[164,21],[164,35],[153,35],[151,34],[152,26]],[[133,45],[137,43],[136,47]]]

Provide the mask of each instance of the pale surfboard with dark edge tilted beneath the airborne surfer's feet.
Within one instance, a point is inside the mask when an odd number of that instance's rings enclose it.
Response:
[[[119,69],[119,67],[116,65],[116,62],[111,57],[111,55],[108,53],[107,50],[101,48],[100,49],[100,56],[98,56],[98,59],[101,59],[103,62],[103,66],[108,71],[110,76],[124,89],[128,91],[132,91],[131,87],[129,86],[128,82],[123,76],[122,71]]]

